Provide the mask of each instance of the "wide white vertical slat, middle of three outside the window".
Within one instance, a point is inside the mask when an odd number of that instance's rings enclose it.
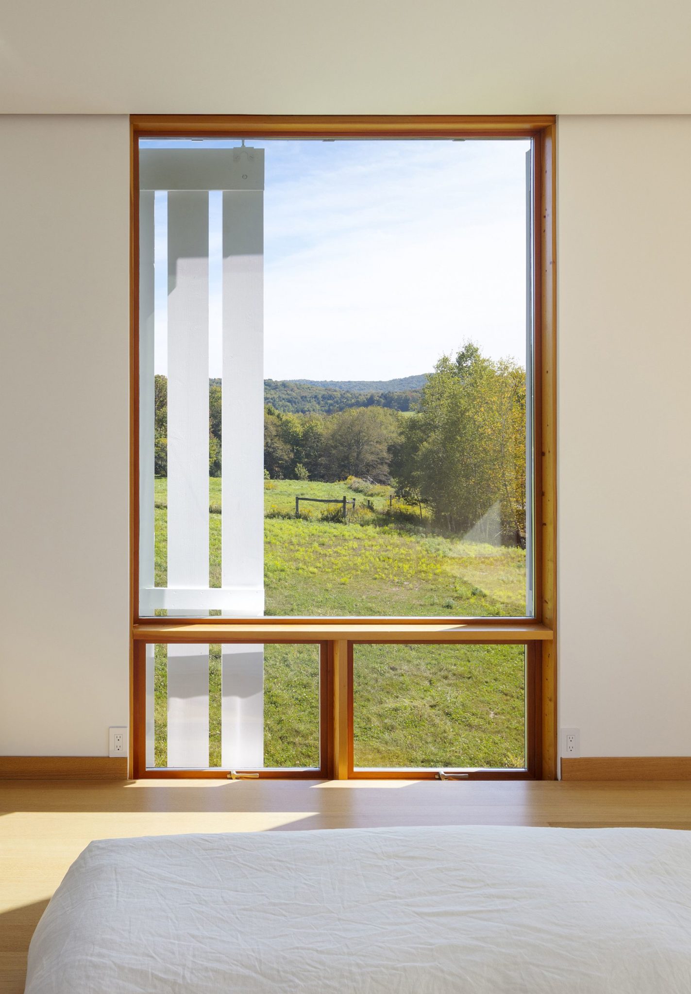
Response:
[[[168,193],[168,586],[209,586],[209,194],[201,191]],[[168,647],[168,765],[209,765],[208,645]]]

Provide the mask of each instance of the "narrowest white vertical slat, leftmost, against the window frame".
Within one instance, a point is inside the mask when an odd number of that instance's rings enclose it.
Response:
[[[154,582],[153,190],[139,195],[139,586]],[[154,765],[152,645],[146,646],[146,765]]]

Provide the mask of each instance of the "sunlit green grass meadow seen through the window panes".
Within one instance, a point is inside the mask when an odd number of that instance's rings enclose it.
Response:
[[[156,583],[166,583],[166,480],[156,480]],[[221,585],[221,480],[210,481],[210,583]],[[267,482],[267,615],[525,613],[525,553],[436,534],[385,487]],[[295,496],[355,498],[347,523]],[[372,505],[368,507],[370,502]],[[334,510],[336,505],[333,506]],[[389,510],[389,513],[387,511]],[[354,669],[356,765],[521,766],[522,646],[360,646]],[[166,764],[166,648],[157,646],[156,765]],[[314,646],[264,650],[264,763],[316,765],[318,660]],[[221,647],[210,650],[210,765],[221,762]]]

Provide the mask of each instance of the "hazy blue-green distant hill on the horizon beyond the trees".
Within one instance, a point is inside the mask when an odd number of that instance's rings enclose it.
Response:
[[[415,410],[427,377],[399,380],[264,380],[264,404],[291,414],[334,414],[347,408]]]

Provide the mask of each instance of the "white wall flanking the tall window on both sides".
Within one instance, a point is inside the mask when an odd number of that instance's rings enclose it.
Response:
[[[127,722],[127,121],[5,117],[0,144],[0,754],[98,755]],[[559,699],[584,755],[691,752],[689,163],[690,117],[560,118]]]

